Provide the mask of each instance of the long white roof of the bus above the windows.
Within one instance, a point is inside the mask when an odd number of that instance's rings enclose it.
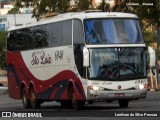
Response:
[[[26,24],[22,26],[13,26],[9,28],[8,31],[32,27],[32,26],[39,26],[43,24],[49,24],[69,19],[80,19],[83,21],[84,19],[92,19],[92,18],[138,18],[138,17],[134,14],[122,13],[122,12],[70,12],[43,18],[40,21],[31,24]]]

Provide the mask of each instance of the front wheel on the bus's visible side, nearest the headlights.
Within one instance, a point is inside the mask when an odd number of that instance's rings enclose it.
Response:
[[[85,103],[84,101],[76,100],[75,92],[74,92],[73,87],[69,89],[69,98],[72,101],[73,109],[78,110],[78,109],[81,109],[84,106],[84,103]]]

